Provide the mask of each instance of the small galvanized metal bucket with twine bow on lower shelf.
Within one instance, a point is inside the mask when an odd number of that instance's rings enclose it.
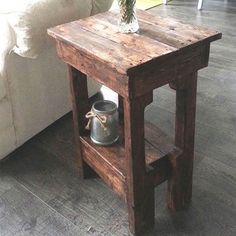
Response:
[[[119,138],[119,118],[114,102],[102,100],[93,104],[86,114],[89,119],[90,138],[98,145],[111,145]]]

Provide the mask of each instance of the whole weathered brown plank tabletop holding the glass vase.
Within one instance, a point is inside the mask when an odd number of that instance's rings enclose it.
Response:
[[[166,55],[207,44],[221,33],[137,11],[140,30],[134,34],[118,32],[119,13],[109,11],[56,26],[48,30],[55,39],[70,44],[89,58],[98,60],[120,74]]]

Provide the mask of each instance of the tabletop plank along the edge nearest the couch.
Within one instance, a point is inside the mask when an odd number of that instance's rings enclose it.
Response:
[[[95,60],[102,61],[121,74],[126,74],[128,68],[145,63],[152,58],[141,54],[132,48],[98,36],[79,26],[79,21],[54,27],[48,33],[56,39],[70,43],[75,48],[89,54]]]

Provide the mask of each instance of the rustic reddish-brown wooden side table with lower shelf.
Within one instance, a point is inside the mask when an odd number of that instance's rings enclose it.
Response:
[[[82,177],[93,170],[127,203],[130,232],[154,224],[154,187],[168,181],[168,207],[186,208],[192,194],[197,71],[221,34],[138,11],[137,34],[117,32],[118,13],[106,12],[49,29],[69,66],[74,128]],[[87,76],[119,94],[121,138],[93,144],[85,131]],[[175,144],[144,121],[153,90],[176,90]]]

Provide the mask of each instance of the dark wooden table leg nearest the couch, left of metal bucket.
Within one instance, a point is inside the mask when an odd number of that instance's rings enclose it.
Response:
[[[80,135],[85,132],[86,126],[85,114],[90,110],[88,100],[87,76],[70,65],[68,65],[68,69],[73,109],[78,171],[80,177],[82,178],[94,177],[96,176],[96,174],[92,170],[92,168],[90,168],[83,161],[80,149]]]

